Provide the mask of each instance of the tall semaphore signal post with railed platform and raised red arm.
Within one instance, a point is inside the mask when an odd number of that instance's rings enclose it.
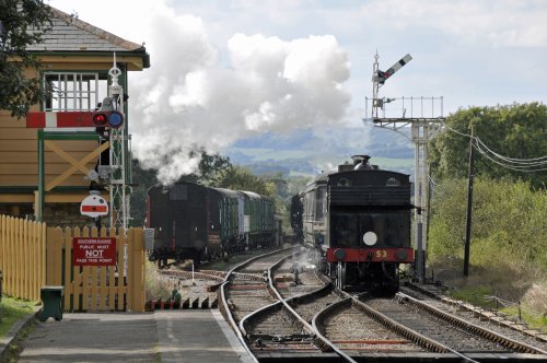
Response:
[[[441,131],[444,125],[443,97],[387,98],[380,96],[380,87],[385,81],[411,59],[410,55],[406,55],[387,71],[381,71],[376,52],[372,73],[372,98],[365,97],[366,118],[364,121],[399,132],[415,145],[415,274],[420,282],[423,282],[430,192],[428,142]]]

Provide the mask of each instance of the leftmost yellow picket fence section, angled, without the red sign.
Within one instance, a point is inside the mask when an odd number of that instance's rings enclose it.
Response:
[[[46,282],[46,224],[0,215],[2,293],[39,300]]]

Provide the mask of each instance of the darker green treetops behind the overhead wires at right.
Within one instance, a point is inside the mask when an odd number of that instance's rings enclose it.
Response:
[[[446,131],[430,143],[431,171],[435,179],[463,178],[468,174],[469,138],[474,127],[490,150],[512,159],[547,155],[547,106],[539,103],[459,109],[446,119],[456,132]],[[457,133],[459,132],[459,133]],[[533,187],[547,186],[547,173],[521,173],[503,168],[477,155],[475,175],[528,180]]]

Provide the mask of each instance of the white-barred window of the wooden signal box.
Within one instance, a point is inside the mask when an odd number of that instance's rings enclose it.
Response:
[[[106,73],[47,72],[44,84],[50,91],[45,112],[93,110],[108,93]]]

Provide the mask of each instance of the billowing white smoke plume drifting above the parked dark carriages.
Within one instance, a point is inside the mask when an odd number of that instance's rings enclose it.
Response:
[[[151,68],[131,73],[130,132],[133,154],[164,184],[197,169],[199,160],[188,156],[195,148],[214,153],[253,134],[345,115],[349,61],[331,35],[235,34],[221,51],[196,16],[164,9],[149,19]]]

